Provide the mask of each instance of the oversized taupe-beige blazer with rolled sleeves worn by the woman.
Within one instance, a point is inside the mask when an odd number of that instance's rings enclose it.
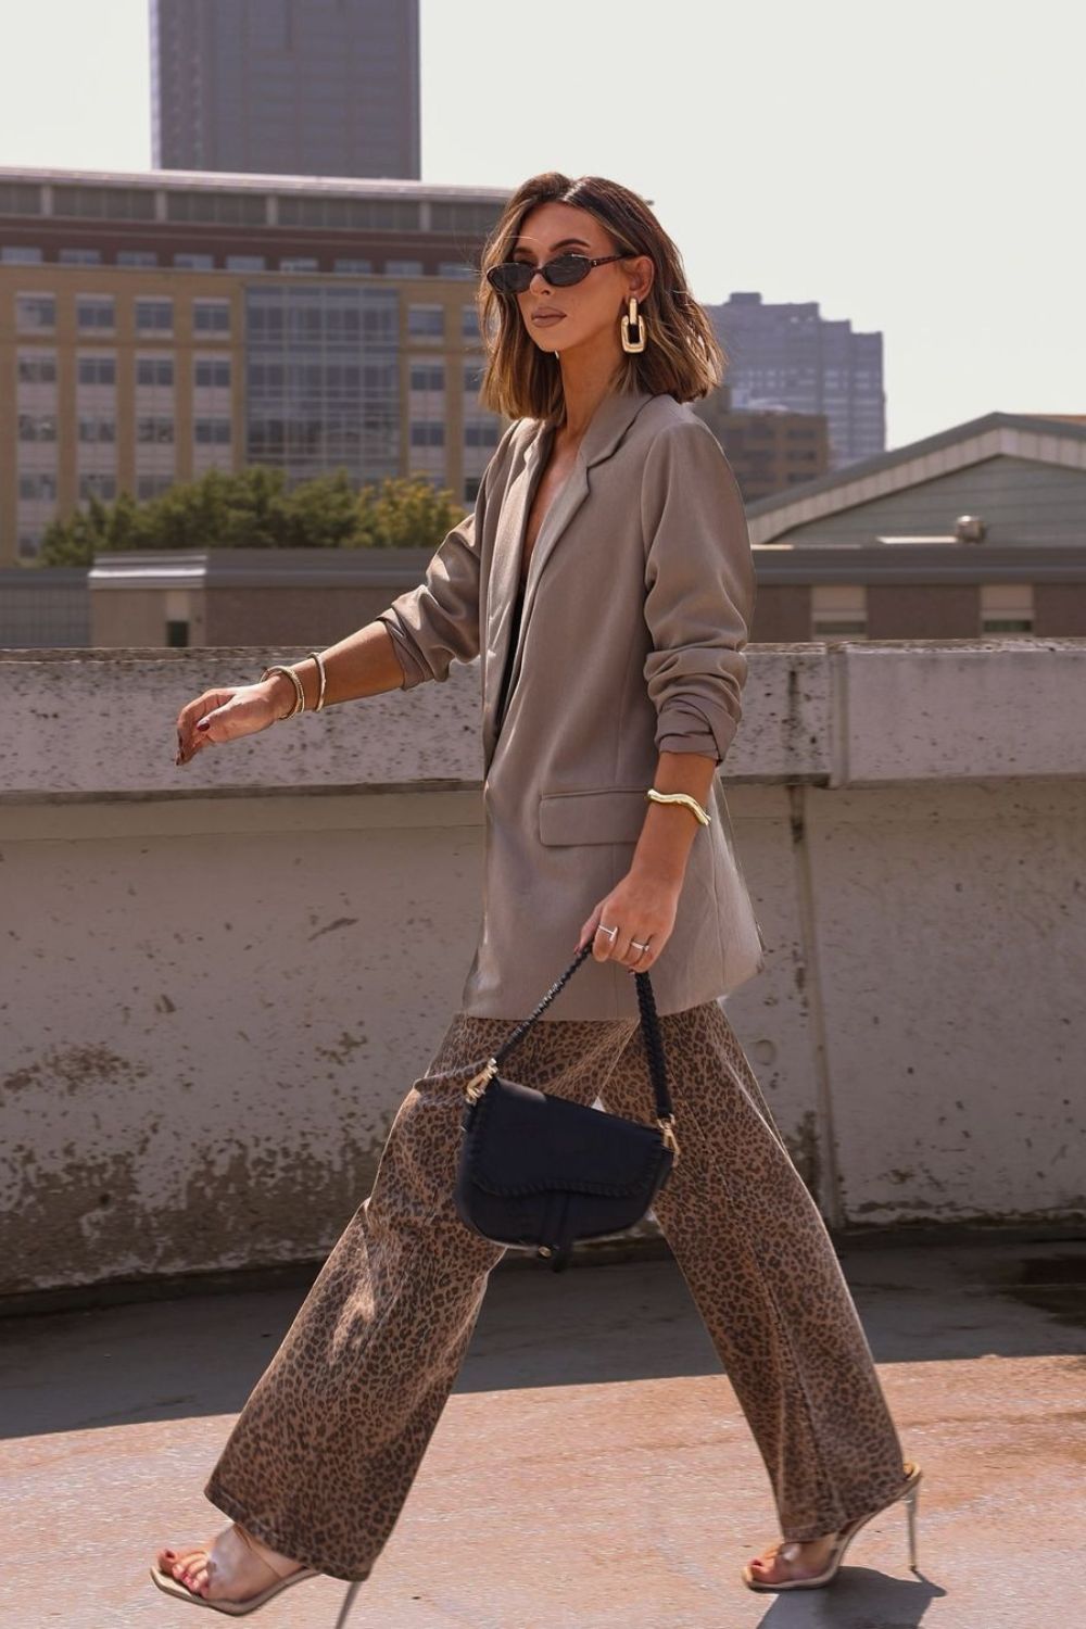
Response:
[[[614,393],[539,531],[498,718],[526,521],[552,437],[534,419],[506,430],[474,515],[381,616],[405,689],[480,656],[484,909],[462,1010],[511,1021],[563,973],[581,924],[628,872],[659,749],[723,759],[755,598],[742,498],[708,425],[672,396]],[[765,959],[720,777],[710,814],[651,968],[659,1013],[726,995]],[[544,1020],[637,1012],[630,971],[589,956]]]

